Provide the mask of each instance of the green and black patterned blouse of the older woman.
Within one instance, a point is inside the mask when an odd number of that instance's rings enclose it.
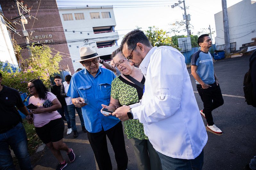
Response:
[[[144,77],[141,83],[145,83]],[[142,98],[142,95],[143,90],[139,86],[127,81],[121,76],[115,78],[111,83],[111,97],[118,99],[121,105],[137,103]],[[124,133],[127,135],[128,139],[148,139],[144,133],[143,124],[140,123],[139,120],[129,119],[125,121]]]

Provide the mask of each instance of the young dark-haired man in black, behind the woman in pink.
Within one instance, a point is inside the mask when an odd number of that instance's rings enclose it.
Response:
[[[59,112],[59,114],[62,116],[62,119],[64,121],[67,121],[67,124],[68,124],[67,135],[69,135],[72,132],[72,129],[71,129],[70,116],[68,112],[67,103],[65,101],[65,97],[61,96],[62,78],[57,75],[54,77],[54,82],[56,83],[56,85],[52,86],[51,92],[57,97],[57,99],[61,103],[61,108],[57,110],[57,112]]]

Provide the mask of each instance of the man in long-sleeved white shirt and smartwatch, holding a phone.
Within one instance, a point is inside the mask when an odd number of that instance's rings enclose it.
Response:
[[[202,169],[207,133],[199,113],[184,56],[169,46],[152,47],[145,34],[126,34],[120,48],[146,77],[140,103],[112,113],[144,125],[163,170]]]

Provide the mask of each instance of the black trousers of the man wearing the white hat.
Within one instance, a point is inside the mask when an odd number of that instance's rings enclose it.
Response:
[[[127,169],[128,157],[125,150],[124,133],[121,121],[111,129],[108,129],[106,131],[102,130],[97,133],[87,132],[87,136],[100,170],[112,169],[111,159],[108,153],[106,136],[108,136],[115,152],[117,169]]]

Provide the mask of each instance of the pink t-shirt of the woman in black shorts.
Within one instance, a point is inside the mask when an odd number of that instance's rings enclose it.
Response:
[[[47,92],[46,100],[50,100],[52,102],[54,99],[57,99],[57,97],[53,93]],[[40,100],[39,98],[35,98],[35,96],[32,96],[29,98],[29,104],[32,103],[33,105],[36,105],[41,108],[45,108],[42,106],[42,103],[44,103],[44,101],[45,100]],[[55,120],[58,118],[61,118],[61,115],[57,111],[33,114],[34,125],[37,128],[42,127],[47,123],[49,123],[51,120]]]

